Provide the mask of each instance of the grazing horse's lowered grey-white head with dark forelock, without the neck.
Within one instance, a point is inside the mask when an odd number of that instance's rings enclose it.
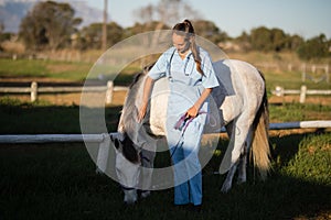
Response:
[[[140,157],[134,142],[126,134],[113,135],[116,147],[116,174],[125,194],[125,204],[137,201],[137,185],[140,176]]]

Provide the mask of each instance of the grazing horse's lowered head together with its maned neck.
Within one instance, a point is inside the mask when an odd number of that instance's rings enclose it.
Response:
[[[137,95],[140,94],[141,85],[146,73],[150,70],[152,65],[143,68],[142,73],[135,76],[132,84],[124,103],[121,117],[119,119],[118,131],[119,135],[114,135],[111,141],[116,147],[116,174],[117,178],[125,193],[124,201],[134,204],[137,201],[137,188],[140,178],[140,155],[137,146],[130,139],[138,132],[138,122],[135,116],[137,114]],[[141,146],[139,146],[141,147]]]

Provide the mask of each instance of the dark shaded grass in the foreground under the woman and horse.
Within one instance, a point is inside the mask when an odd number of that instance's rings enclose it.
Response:
[[[82,143],[2,144],[0,219],[328,219],[331,183],[307,182],[282,172],[303,138],[271,139],[282,163],[275,165],[266,182],[248,167],[248,182],[234,185],[228,194],[220,191],[225,176],[209,172],[221,162],[220,156],[213,157],[203,172],[202,213],[174,207],[172,189],[153,191],[135,206],[124,206],[118,184],[95,174]]]

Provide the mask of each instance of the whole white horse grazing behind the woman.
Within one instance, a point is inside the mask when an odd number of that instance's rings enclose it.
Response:
[[[246,182],[248,151],[253,152],[255,166],[263,179],[270,167],[268,141],[268,103],[265,79],[261,73],[248,63],[224,59],[213,64],[220,87],[213,89],[217,108],[212,116],[221,116],[220,128],[225,125],[229,143],[220,166],[220,174],[228,172],[222,191],[232,187],[238,167],[238,183]],[[148,69],[147,69],[148,70]],[[150,111],[143,125],[137,122],[146,74],[131,85],[124,105],[118,134],[111,136],[116,146],[116,173],[125,191],[125,202],[137,201],[137,188],[141,196],[149,195],[152,167],[156,156],[156,136],[166,134],[168,79],[154,82]],[[143,128],[143,129],[142,129]],[[252,147],[250,147],[252,146]],[[142,167],[147,169],[141,170]]]

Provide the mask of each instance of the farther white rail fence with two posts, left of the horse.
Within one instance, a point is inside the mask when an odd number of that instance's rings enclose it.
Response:
[[[107,105],[111,103],[114,91],[127,90],[128,87],[114,86],[114,81],[108,81],[107,86],[85,87],[39,87],[36,81],[32,81],[30,87],[0,87],[0,94],[30,94],[32,102],[38,100],[39,94],[106,92]]]

